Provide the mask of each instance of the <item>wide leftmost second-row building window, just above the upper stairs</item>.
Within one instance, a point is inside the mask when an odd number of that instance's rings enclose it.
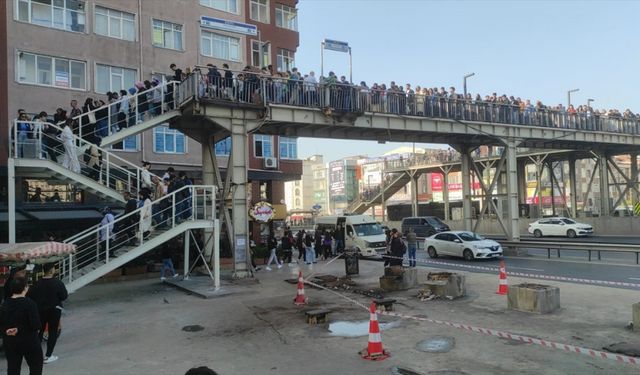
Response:
[[[85,90],[86,71],[84,61],[18,52],[20,83]]]

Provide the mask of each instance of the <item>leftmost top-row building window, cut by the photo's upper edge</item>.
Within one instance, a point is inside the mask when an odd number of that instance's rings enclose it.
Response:
[[[84,1],[16,0],[16,19],[54,29],[84,32]]]

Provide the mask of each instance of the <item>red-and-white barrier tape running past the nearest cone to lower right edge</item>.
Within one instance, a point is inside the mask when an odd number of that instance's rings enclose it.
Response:
[[[329,288],[326,288],[322,285],[316,284],[312,281],[308,281],[308,280],[304,280],[304,282],[306,284],[309,285],[313,285],[317,288],[320,288],[322,290],[326,290],[330,293],[336,294],[339,297],[363,308],[364,310],[366,310],[367,312],[369,312],[369,307],[365,306],[363,303],[360,303],[359,301],[351,298],[351,297],[347,297],[341,293],[336,292],[335,290],[331,290]],[[506,332],[506,331],[497,331],[497,330],[493,330],[493,329],[488,329],[488,328],[481,328],[481,327],[476,327],[476,326],[471,326],[471,325],[467,325],[467,324],[460,324],[460,323],[453,323],[453,322],[447,322],[444,320],[437,320],[437,319],[428,319],[428,318],[421,318],[418,316],[412,316],[412,315],[403,315],[403,314],[399,314],[399,313],[395,313],[395,312],[391,312],[391,311],[378,311],[379,314],[382,315],[388,315],[388,316],[395,316],[398,318],[402,318],[402,319],[411,319],[411,320],[417,320],[417,321],[421,321],[421,322],[428,322],[428,323],[434,323],[434,324],[440,324],[440,325],[445,325],[448,327],[453,327],[453,328],[457,328],[457,329],[461,329],[461,330],[465,330],[465,331],[470,331],[470,332],[475,332],[475,333],[481,333],[484,335],[489,335],[489,336],[494,336],[494,337],[498,337],[498,338],[502,338],[502,339],[509,339],[509,340],[515,340],[515,341],[522,341],[524,343],[528,343],[528,344],[534,344],[534,345],[539,345],[539,346],[543,346],[545,348],[550,348],[550,349],[555,349],[555,350],[562,350],[565,351],[567,353],[573,353],[573,354],[582,354],[585,356],[589,356],[591,358],[595,358],[595,359],[606,359],[606,360],[610,360],[610,361],[615,361],[618,363],[626,363],[626,364],[630,364],[630,365],[635,365],[635,366],[640,366],[640,359],[635,358],[635,357],[629,357],[626,355],[621,355],[621,354],[614,354],[614,353],[608,353],[608,352],[603,352],[600,350],[594,350],[594,349],[588,349],[588,348],[581,348],[579,346],[574,346],[574,345],[568,345],[568,344],[562,344],[562,343],[558,343],[558,342],[554,342],[554,341],[547,341],[547,340],[542,340],[542,339],[537,339],[534,337],[529,337],[529,336],[523,336],[523,335],[517,335],[515,333],[510,333],[510,332]]]

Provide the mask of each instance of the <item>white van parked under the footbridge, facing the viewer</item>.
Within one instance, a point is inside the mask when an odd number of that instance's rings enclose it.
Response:
[[[386,237],[379,223],[367,215],[321,216],[316,228],[335,232],[338,225],[344,231],[345,249],[355,248],[362,256],[377,256],[387,248]]]

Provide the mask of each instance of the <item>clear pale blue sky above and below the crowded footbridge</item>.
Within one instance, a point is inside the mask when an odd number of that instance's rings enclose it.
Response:
[[[546,105],[595,99],[640,112],[640,1],[300,0],[296,66],[320,74],[320,42],[346,41],[353,81],[507,94]],[[325,51],[324,72],[348,78],[346,54]],[[403,144],[302,138],[298,157],[380,155]],[[410,145],[409,145],[410,146]],[[416,147],[425,145],[416,145]],[[446,147],[439,146],[439,147]]]

